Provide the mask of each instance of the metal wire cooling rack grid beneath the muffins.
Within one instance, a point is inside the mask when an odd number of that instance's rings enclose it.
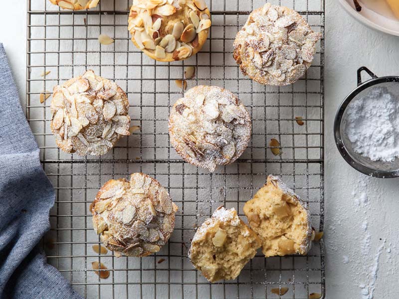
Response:
[[[273,257],[260,253],[233,281],[209,284],[187,258],[195,229],[219,205],[242,206],[265,182],[267,174],[283,180],[308,202],[316,230],[324,223],[324,39],[304,78],[286,87],[259,85],[243,77],[232,58],[232,42],[249,12],[262,0],[207,0],[212,13],[209,38],[200,53],[183,62],[149,59],[130,42],[129,0],[102,0],[89,11],[60,11],[47,0],[27,1],[26,115],[41,149],[41,161],[57,194],[50,212],[51,231],[42,245],[48,262],[85,298],[308,298],[325,295],[323,241],[307,256]],[[272,0],[297,10],[324,33],[324,0]],[[106,33],[112,45],[100,45]],[[169,144],[169,108],[183,94],[174,80],[186,66],[196,67],[188,88],[218,85],[236,93],[253,120],[248,149],[233,164],[214,173],[185,163]],[[49,104],[40,93],[93,69],[114,79],[128,94],[132,125],[140,126],[101,157],[81,157],[57,149],[49,128]],[[42,73],[50,71],[42,77]],[[299,126],[295,117],[305,124]],[[274,156],[271,138],[281,144]],[[110,178],[142,171],[168,188],[180,210],[169,244],[145,258],[98,255],[99,244],[88,207]],[[165,259],[162,261],[161,259]],[[110,270],[100,279],[91,263]],[[284,296],[272,288],[288,287]]]

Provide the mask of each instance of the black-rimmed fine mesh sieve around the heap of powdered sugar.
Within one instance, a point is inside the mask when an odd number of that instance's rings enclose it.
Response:
[[[372,79],[362,82],[362,71],[367,72]],[[366,67],[358,69],[358,87],[353,90],[342,102],[334,121],[334,137],[338,150],[343,158],[355,169],[364,174],[390,178],[399,176],[399,157],[395,160],[386,162],[382,160],[373,161],[363,156],[353,149],[352,143],[346,135],[346,125],[348,123],[347,107],[352,100],[359,99],[370,92],[370,88],[384,87],[390,93],[399,97],[399,77],[387,76],[377,77]]]

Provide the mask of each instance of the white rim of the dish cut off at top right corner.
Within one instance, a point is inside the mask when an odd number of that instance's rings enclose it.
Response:
[[[356,10],[353,0],[339,1],[346,11],[358,21],[373,29],[399,36],[399,20],[395,20],[393,14],[389,10],[385,11],[382,9],[381,13],[384,13],[383,15],[368,8],[365,1],[358,0],[359,4],[362,6],[362,11],[359,12]]]

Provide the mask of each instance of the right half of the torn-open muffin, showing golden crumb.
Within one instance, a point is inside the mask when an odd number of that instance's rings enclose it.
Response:
[[[310,213],[298,195],[276,176],[244,205],[249,226],[262,240],[265,257],[305,255],[311,247]]]

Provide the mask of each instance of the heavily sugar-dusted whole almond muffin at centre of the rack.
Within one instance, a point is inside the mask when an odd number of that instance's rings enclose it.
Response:
[[[176,101],[169,117],[172,146],[185,161],[209,171],[244,152],[251,128],[241,101],[217,86],[191,88]]]

